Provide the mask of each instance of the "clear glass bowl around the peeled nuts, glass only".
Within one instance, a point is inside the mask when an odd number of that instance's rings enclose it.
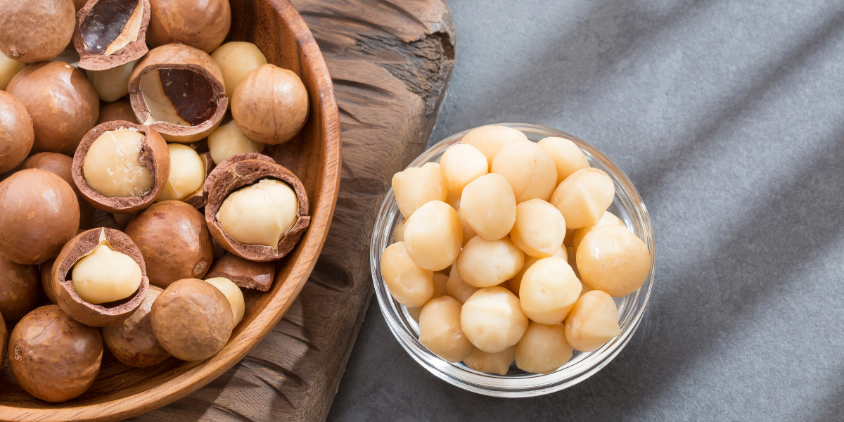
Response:
[[[387,192],[387,197],[381,203],[375,228],[372,231],[370,262],[378,306],[381,307],[381,313],[387,320],[387,326],[398,339],[398,343],[402,344],[402,347],[408,351],[414,360],[419,362],[419,365],[424,366],[425,369],[442,380],[471,392],[495,397],[531,397],[559,391],[587,379],[603,368],[604,365],[607,365],[610,360],[613,360],[621,349],[624,349],[633,333],[636,333],[636,328],[639,327],[641,318],[645,313],[648,297],[651,295],[653,274],[656,268],[656,246],[651,219],[647,214],[645,204],[641,202],[639,193],[636,192],[636,188],[633,187],[624,172],[612,160],[601,154],[598,149],[568,133],[548,127],[522,123],[500,123],[500,125],[521,131],[533,142],[548,137],[569,139],[582,149],[592,167],[605,171],[612,178],[615,196],[613,204],[609,207],[609,212],[618,216],[628,229],[636,233],[645,242],[651,254],[651,271],[648,273],[645,284],[642,284],[640,289],[630,295],[614,298],[618,307],[621,334],[593,352],[575,351],[574,356],[568,363],[557,371],[545,375],[519,370],[515,363],[511,365],[510,371],[504,376],[486,374],[474,371],[463,365],[462,362],[449,363],[431,353],[419,343],[419,324],[410,317],[407,308],[392,299],[392,295],[390,295],[387,285],[381,277],[381,252],[384,252],[384,249],[393,243],[392,232],[398,222],[402,220],[392,189]],[[439,162],[446,149],[455,143],[459,143],[468,132],[457,133],[437,143],[425,153],[419,155],[419,158],[410,163],[408,167],[419,167],[425,163]]]

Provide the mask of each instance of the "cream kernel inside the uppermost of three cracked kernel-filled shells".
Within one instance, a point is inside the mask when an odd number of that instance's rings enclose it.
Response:
[[[149,170],[138,162],[143,133],[134,128],[108,131],[85,154],[82,174],[104,197],[139,197],[153,188]]]

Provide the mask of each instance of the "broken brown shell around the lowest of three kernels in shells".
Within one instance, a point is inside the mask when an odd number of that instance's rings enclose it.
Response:
[[[74,270],[78,265],[82,264],[84,258],[95,257],[99,246],[106,246],[109,254],[117,252],[117,259],[123,256],[131,258],[138,264],[140,268],[140,284],[131,295],[120,299],[111,300],[99,304],[90,303],[80,297],[77,289],[82,287],[78,284],[78,280],[72,280],[75,277]],[[111,268],[125,268],[126,266],[112,266],[108,259],[111,256],[104,257],[106,262],[91,262],[100,263],[103,269]],[[125,259],[125,258],[122,258]],[[62,310],[68,313],[70,317],[78,322],[92,327],[106,327],[109,325],[119,324],[126,318],[130,317],[133,312],[141,305],[143,298],[147,295],[149,289],[149,279],[147,278],[147,269],[143,263],[143,256],[141,255],[138,246],[135,246],[132,239],[125,235],[122,231],[107,229],[100,227],[98,229],[91,229],[84,231],[68,241],[68,244],[62,248],[56,258],[56,263],[52,269],[52,291],[56,295],[56,300]],[[113,278],[110,280],[119,279]],[[91,288],[91,287],[89,287]],[[93,286],[93,289],[96,289]]]

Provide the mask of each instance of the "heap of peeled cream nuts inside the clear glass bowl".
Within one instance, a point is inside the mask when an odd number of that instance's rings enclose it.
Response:
[[[612,179],[568,139],[485,126],[396,173],[404,219],[381,254],[419,342],[449,362],[549,373],[621,331],[613,297],[651,270],[647,245],[607,209]]]

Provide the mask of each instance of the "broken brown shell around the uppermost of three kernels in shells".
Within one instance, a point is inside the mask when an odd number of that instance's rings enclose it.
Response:
[[[89,183],[89,181],[94,181],[95,177],[97,177],[94,174],[95,170],[91,170],[91,174],[86,175],[84,167],[86,160],[91,160],[89,164],[91,167],[94,167],[96,160],[106,160],[106,158],[95,157],[94,154],[91,154],[91,157],[89,157],[91,146],[101,136],[107,136],[108,133],[126,133],[126,131],[138,133],[143,136],[138,141],[140,143],[136,165],[138,168],[134,170],[143,172],[143,169],[145,169],[147,174],[138,176],[138,178],[143,177],[145,182],[150,186],[145,189],[145,192],[116,194],[115,192],[119,191],[119,189],[116,189],[116,178],[111,180],[111,178],[106,177],[104,174],[100,175],[100,180],[105,179],[105,181],[101,181],[100,183],[108,183],[110,184],[110,189],[115,189],[106,191],[95,183],[95,186],[100,189],[98,192],[91,186],[92,182]],[[100,151],[100,149],[95,149],[95,151]],[[161,194],[167,183],[167,178],[170,176],[170,151],[167,149],[167,143],[161,138],[160,134],[156,133],[149,126],[136,125],[125,121],[105,122],[91,129],[82,139],[82,142],[79,143],[76,154],[73,154],[72,171],[73,182],[76,183],[85,201],[88,201],[95,208],[100,208],[109,213],[131,214],[142,208],[146,208]],[[114,183],[113,186],[112,181]],[[139,188],[140,185],[138,183],[138,181],[132,180],[122,181],[122,184],[126,185],[127,188],[143,191],[144,189]],[[106,194],[101,192],[106,192]]]

